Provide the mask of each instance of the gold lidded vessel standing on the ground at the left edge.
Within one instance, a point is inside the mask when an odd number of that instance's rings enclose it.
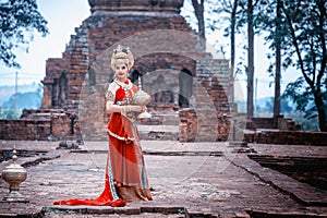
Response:
[[[20,184],[27,178],[26,170],[20,166],[16,160],[16,149],[13,148],[13,162],[4,168],[2,171],[2,179],[10,185],[9,194],[3,197],[7,202],[27,202],[25,197],[20,193]]]

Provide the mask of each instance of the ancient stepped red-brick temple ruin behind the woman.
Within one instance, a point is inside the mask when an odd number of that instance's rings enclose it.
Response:
[[[119,44],[134,53],[134,83],[153,97],[145,124],[162,124],[170,114],[182,142],[228,138],[229,62],[205,52],[180,15],[183,0],[88,2],[92,15],[75,28],[62,58],[47,60],[41,107],[25,110],[16,124],[16,131],[28,129],[22,140],[106,138],[104,93]]]

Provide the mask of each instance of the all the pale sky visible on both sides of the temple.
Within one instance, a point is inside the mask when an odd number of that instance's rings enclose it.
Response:
[[[186,0],[187,1],[187,0]],[[29,43],[29,51],[25,53],[21,50],[16,52],[17,61],[22,65],[21,69],[9,69],[0,63],[0,86],[40,83],[46,74],[46,60],[48,58],[61,58],[66,44],[70,41],[71,35],[74,35],[75,27],[78,27],[82,22],[90,15],[87,0],[37,0],[39,12],[48,21],[49,35],[41,37],[36,33],[34,40]],[[183,11],[182,11],[183,12]],[[241,36],[242,37],[242,36]],[[215,40],[221,40],[221,44],[228,41],[220,33],[208,36],[208,40],[214,44]],[[240,38],[239,40],[246,40]],[[254,98],[263,98],[274,96],[272,77],[266,73],[269,62],[265,58],[267,48],[264,46],[263,38],[255,39],[255,96]],[[246,41],[244,41],[246,44]],[[226,48],[228,51],[229,48]],[[228,58],[228,57],[227,57]],[[15,75],[17,74],[17,81]],[[292,73],[283,74],[284,78],[281,82],[283,90],[288,82],[292,78]],[[237,97],[244,99],[246,93],[246,76],[239,75],[235,87]]]

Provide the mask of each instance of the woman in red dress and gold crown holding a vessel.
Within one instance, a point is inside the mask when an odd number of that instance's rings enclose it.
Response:
[[[132,201],[152,201],[140,135],[134,121],[146,106],[132,105],[138,93],[129,78],[134,58],[129,48],[118,46],[111,58],[116,78],[109,84],[106,112],[111,113],[107,125],[109,150],[107,155],[105,190],[98,198],[68,199],[56,205],[110,205],[124,206]],[[141,92],[140,92],[141,93]]]

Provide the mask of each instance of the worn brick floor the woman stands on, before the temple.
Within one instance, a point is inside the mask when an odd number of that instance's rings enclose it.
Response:
[[[228,143],[143,141],[143,149],[149,154],[145,164],[153,202],[130,203],[122,208],[55,206],[58,199],[90,198],[101,193],[107,142],[86,142],[75,150],[56,149],[58,142],[0,142],[1,149],[13,144],[17,149],[47,153],[19,159],[21,165],[29,162],[27,179],[21,184],[21,193],[29,202],[0,202],[0,217],[250,217],[251,211],[267,217],[327,217],[325,191],[263,168],[247,157],[249,153],[234,153]],[[326,147],[316,146],[249,147],[261,155],[327,154]],[[0,169],[9,164],[1,162]],[[8,187],[0,180],[1,198]]]

